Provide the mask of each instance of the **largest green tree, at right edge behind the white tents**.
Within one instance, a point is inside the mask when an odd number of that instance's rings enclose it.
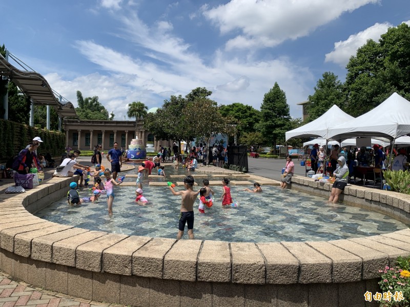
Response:
[[[368,40],[347,63],[346,112],[360,116],[393,92],[410,98],[410,27],[389,28],[379,42]]]

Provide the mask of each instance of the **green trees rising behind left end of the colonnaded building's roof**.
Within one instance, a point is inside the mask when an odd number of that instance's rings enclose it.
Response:
[[[108,111],[98,101],[98,96],[83,98],[83,94],[77,91],[78,107],[75,108],[79,119],[108,120]]]

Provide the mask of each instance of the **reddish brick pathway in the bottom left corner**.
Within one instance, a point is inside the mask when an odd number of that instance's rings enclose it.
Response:
[[[0,307],[31,306],[31,307],[101,307],[122,306],[118,304],[100,303],[68,295],[46,291],[41,288],[31,288],[25,282],[16,282],[0,271]]]

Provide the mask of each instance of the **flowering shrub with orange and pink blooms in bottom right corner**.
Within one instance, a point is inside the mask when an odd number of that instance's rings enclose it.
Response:
[[[383,297],[380,300],[380,306],[408,306],[410,304],[410,256],[397,258],[396,266],[386,266],[383,270],[379,270],[381,280],[379,281],[380,289],[383,293],[402,293],[402,299],[391,298],[390,301]]]

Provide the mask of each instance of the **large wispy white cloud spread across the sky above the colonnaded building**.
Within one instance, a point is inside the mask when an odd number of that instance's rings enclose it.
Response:
[[[92,40],[78,40],[75,49],[99,65],[101,72],[70,81],[57,74],[47,75],[53,89],[74,105],[79,90],[84,97],[98,96],[108,111],[114,112],[115,119],[124,119],[132,101],[141,101],[149,108],[161,106],[171,95],[185,96],[203,86],[213,91],[211,98],[220,104],[241,102],[259,109],[264,93],[278,82],[286,92],[291,114],[300,117],[296,103],[311,94],[307,84],[314,81],[313,74],[289,58],[260,61],[251,55],[237,58],[222,50],[201,56],[172,33],[169,21],[149,27],[135,13],[125,16],[116,12],[113,16],[122,23],[116,35],[134,45],[133,53],[125,54]],[[212,61],[206,63],[204,57]]]

